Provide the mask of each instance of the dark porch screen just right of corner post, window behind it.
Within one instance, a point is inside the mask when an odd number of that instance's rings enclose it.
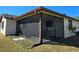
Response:
[[[53,16],[44,14],[43,15],[43,24],[42,24],[42,31],[47,36],[54,36],[54,22]]]

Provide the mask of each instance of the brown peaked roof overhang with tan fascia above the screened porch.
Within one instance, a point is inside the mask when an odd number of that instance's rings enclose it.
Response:
[[[52,10],[49,10],[47,8],[44,8],[44,7],[39,7],[39,8],[36,8],[30,12],[27,12],[19,17],[16,18],[16,20],[21,20],[21,19],[24,19],[24,18],[27,18],[27,17],[30,17],[30,16],[33,16],[37,13],[44,13],[44,14],[48,14],[48,15],[52,15],[52,16],[57,16],[57,17],[66,17],[66,18],[69,18],[69,19],[72,19],[72,20],[76,20],[76,21],[79,21],[73,17],[70,17],[70,16],[67,16],[65,14],[61,14],[61,13],[58,13],[56,11],[52,11]]]

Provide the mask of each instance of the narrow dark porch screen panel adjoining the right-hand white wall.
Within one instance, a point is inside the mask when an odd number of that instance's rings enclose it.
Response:
[[[63,38],[64,37],[63,18],[54,17],[54,21],[55,21],[55,35],[56,35],[56,38]]]

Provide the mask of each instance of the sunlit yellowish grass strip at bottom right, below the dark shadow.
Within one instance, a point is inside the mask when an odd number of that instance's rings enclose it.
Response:
[[[73,46],[49,45],[43,44],[41,46],[30,49],[33,52],[79,52],[79,48]]]

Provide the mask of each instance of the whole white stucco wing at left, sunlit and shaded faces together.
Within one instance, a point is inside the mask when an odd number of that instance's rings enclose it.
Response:
[[[4,22],[4,28],[2,28],[2,22]],[[3,17],[0,23],[0,32],[3,35],[16,34],[16,21],[11,19],[9,20]]]

